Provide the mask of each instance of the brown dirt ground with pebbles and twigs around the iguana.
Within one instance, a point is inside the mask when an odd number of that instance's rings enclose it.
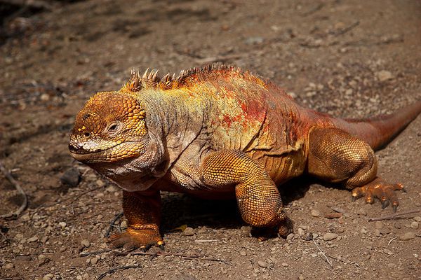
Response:
[[[67,151],[83,102],[118,89],[132,68],[225,62],[334,116],[390,113],[421,99],[420,26],[421,2],[410,0],[91,0],[6,22],[0,160],[29,205],[0,219],[0,279],[100,279],[122,266],[133,267],[104,279],[421,279],[421,212],[368,221],[392,209],[312,179],[281,186],[288,239],[250,237],[235,201],[163,193],[167,255],[107,252],[121,191]],[[421,209],[420,128],[418,117],[377,152],[380,176],[406,186],[398,213]],[[0,174],[0,215],[21,202]]]

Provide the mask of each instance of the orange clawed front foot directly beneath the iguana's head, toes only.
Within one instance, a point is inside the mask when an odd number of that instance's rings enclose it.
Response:
[[[154,229],[134,230],[128,228],[126,232],[109,237],[108,242],[113,249],[123,247],[126,251],[136,248],[147,251],[152,246],[159,246],[163,250],[163,240],[159,235],[159,230]]]

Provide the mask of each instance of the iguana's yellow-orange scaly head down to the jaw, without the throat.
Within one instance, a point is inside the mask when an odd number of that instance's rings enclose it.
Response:
[[[145,109],[131,94],[99,92],[76,116],[69,150],[81,162],[116,162],[145,153]]]

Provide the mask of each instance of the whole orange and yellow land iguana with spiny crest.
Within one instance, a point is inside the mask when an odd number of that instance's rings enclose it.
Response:
[[[163,247],[160,191],[201,197],[234,195],[241,217],[260,232],[286,236],[292,222],[277,186],[302,174],[375,199],[399,200],[377,176],[373,150],[385,146],[421,111],[333,118],[305,109],[263,78],[213,64],[181,71],[132,71],[119,91],[98,92],[76,116],[69,150],[123,189],[126,232],[114,248]]]

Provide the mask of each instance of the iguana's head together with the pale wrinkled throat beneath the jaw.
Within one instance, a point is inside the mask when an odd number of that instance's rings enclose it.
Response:
[[[99,92],[77,114],[69,151],[122,188],[145,189],[163,175],[163,148],[146,118],[145,106],[133,94]]]

